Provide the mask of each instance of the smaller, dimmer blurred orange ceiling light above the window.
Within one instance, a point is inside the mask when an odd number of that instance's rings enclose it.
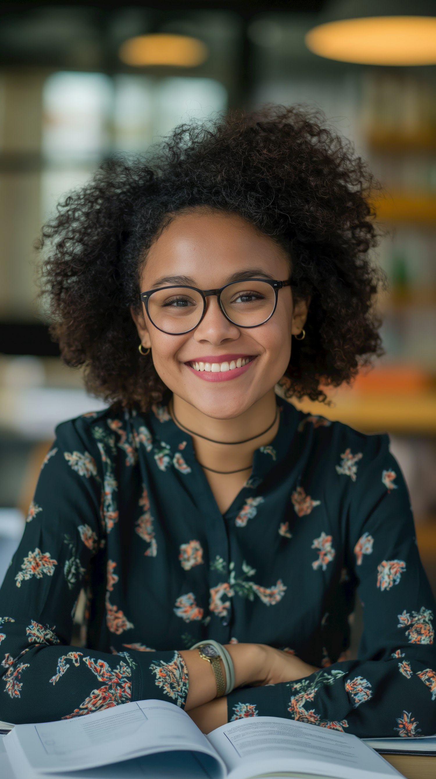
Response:
[[[208,48],[187,35],[138,35],[120,46],[120,60],[126,65],[176,65],[194,68],[208,58]]]

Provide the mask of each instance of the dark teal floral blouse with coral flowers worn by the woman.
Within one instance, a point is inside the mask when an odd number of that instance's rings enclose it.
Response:
[[[277,397],[277,435],[256,449],[223,515],[169,397],[148,414],[109,408],[56,428],[0,590],[0,719],[146,698],[183,707],[179,651],[210,637],[267,643],[320,668],[236,689],[229,721],[434,734],[436,603],[389,435]],[[364,632],[351,660],[356,588]],[[71,646],[83,599],[82,647]]]

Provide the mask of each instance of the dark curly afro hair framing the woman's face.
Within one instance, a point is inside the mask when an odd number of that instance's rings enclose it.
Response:
[[[312,296],[284,397],[327,405],[323,386],[351,383],[385,350],[372,304],[385,273],[369,196],[379,189],[350,142],[302,105],[267,104],[178,125],[134,159],[105,161],[68,194],[37,241],[39,296],[67,365],[92,395],[148,411],[168,388],[138,352],[130,308],[141,307],[147,250],[177,212],[207,206],[239,216],[288,252],[296,298]]]

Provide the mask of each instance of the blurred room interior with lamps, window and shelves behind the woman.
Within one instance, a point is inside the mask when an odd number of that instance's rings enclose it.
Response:
[[[274,101],[323,109],[384,186],[386,355],[330,390],[333,407],[295,405],[389,432],[436,593],[436,9],[345,5],[0,3],[0,580],[55,425],[103,407],[61,363],[37,305],[40,225],[112,153],[145,152],[191,116]],[[401,26],[393,13],[421,19]]]

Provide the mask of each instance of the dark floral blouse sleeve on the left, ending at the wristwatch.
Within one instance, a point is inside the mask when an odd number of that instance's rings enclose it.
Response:
[[[84,427],[78,418],[56,428],[0,589],[0,719],[14,724],[146,698],[184,707],[187,696],[187,668],[176,651],[145,657],[71,645],[90,569],[106,576],[103,471]]]

